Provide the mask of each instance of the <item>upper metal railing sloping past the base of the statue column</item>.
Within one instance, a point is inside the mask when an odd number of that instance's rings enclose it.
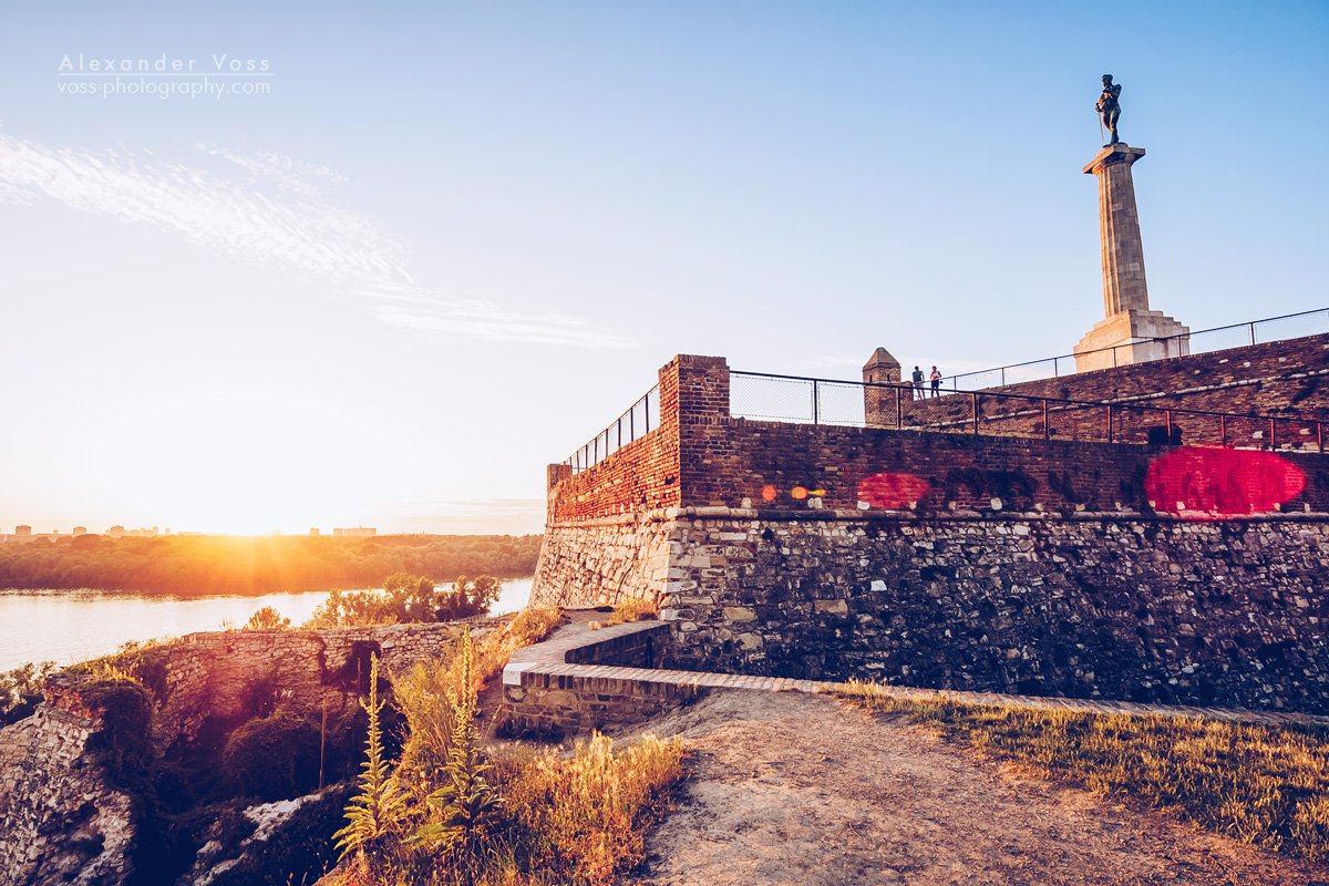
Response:
[[[1111,352],[1111,365],[1115,367],[1118,364],[1116,357],[1120,349],[1134,348],[1140,344],[1158,343],[1160,345],[1172,345],[1171,348],[1166,348],[1166,352],[1176,353],[1180,349],[1180,344],[1185,343],[1188,353],[1195,355],[1209,353],[1211,351],[1225,351],[1227,348],[1240,348],[1251,344],[1281,341],[1284,339],[1300,339],[1301,336],[1318,335],[1322,332],[1329,332],[1329,308],[1301,311],[1300,313],[1285,313],[1277,317],[1265,317],[1264,320],[1213,327],[1212,329],[1199,329],[1196,332],[1188,332],[1187,335],[1163,336],[1158,339],[1131,339],[1124,344],[1112,345],[1110,348],[1099,348],[1096,351],[1086,351],[1079,356],[1083,357],[1091,353]],[[1013,363],[1010,365],[995,367],[993,369],[961,372],[953,376],[945,376],[942,383],[949,388],[964,387],[966,391],[973,391],[975,388],[1001,388],[1009,384],[1019,384],[1022,381],[1058,379],[1061,376],[1075,375],[1075,356],[1076,355],[1074,353],[1062,353],[1055,357],[1030,360],[1027,363]],[[1122,363],[1128,364],[1132,361],[1127,355],[1123,355]]]

